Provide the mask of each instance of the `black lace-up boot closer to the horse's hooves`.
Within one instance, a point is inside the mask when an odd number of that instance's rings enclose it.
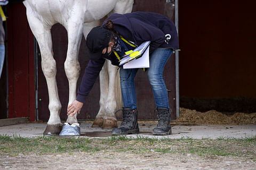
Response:
[[[120,128],[114,128],[112,135],[138,134],[138,111],[130,107],[123,107],[123,122]]]

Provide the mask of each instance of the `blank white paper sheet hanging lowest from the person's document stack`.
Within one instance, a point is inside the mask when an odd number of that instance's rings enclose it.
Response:
[[[145,53],[138,59],[124,64],[124,69],[148,68],[149,67],[149,46]]]

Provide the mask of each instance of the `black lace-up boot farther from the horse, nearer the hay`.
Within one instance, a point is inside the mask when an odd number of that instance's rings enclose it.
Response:
[[[170,118],[171,109],[165,107],[157,108],[157,127],[153,129],[153,135],[169,135],[172,133]]]

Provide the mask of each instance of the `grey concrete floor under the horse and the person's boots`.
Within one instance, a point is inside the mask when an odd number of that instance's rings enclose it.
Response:
[[[91,128],[92,122],[81,123],[81,137],[102,138],[110,137],[111,129]],[[172,124],[172,134],[166,136],[152,135],[152,130],[157,123],[139,122],[140,134],[127,135],[128,137],[137,138],[246,138],[256,135],[256,124],[253,125],[179,125]],[[118,124],[119,126],[119,124]],[[18,135],[20,137],[38,137],[42,136],[46,128],[46,123],[23,123],[16,125],[7,125],[0,127],[1,135]]]

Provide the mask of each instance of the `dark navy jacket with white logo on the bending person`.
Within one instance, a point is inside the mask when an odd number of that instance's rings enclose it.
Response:
[[[132,41],[135,45],[150,40],[149,53],[152,53],[156,48],[178,49],[177,29],[170,19],[161,14],[150,12],[113,14],[105,21],[107,20],[113,22],[114,29],[119,35],[128,41]],[[117,65],[114,62],[116,59],[114,54],[111,54],[108,59],[112,64]],[[100,58],[98,61],[89,61],[78,89],[78,101],[84,103],[104,63],[104,58]]]

